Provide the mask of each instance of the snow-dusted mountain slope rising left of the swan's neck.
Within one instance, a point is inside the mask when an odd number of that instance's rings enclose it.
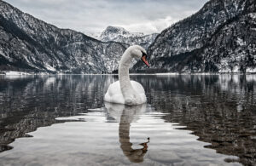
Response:
[[[128,47],[57,28],[3,1],[0,23],[0,71],[112,72]]]

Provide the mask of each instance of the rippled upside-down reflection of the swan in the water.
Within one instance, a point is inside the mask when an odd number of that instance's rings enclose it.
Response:
[[[143,157],[148,151],[149,138],[148,141],[140,144],[143,146],[142,148],[133,149],[131,147],[132,143],[130,142],[130,126],[132,122],[138,119],[138,114],[145,111],[146,105],[125,106],[105,102],[105,106],[108,109],[109,115],[119,121],[120,148],[125,156],[128,157],[132,163],[142,163]]]

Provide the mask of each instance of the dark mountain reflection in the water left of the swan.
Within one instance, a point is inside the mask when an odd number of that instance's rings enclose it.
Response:
[[[101,76],[0,77],[0,152],[15,138],[60,123],[55,117],[102,106],[109,81]]]

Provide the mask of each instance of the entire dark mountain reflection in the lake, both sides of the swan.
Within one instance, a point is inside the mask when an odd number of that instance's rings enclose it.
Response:
[[[211,143],[207,147],[240,157],[240,163],[256,163],[255,76],[131,78],[143,84],[148,103],[166,113],[166,122],[187,126],[199,140]],[[113,81],[111,76],[0,77],[1,151],[15,138],[57,123],[55,117],[102,107]]]

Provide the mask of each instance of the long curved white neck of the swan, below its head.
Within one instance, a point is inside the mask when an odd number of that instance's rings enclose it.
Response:
[[[133,90],[130,82],[130,76],[129,76],[129,68],[131,64],[131,53],[130,51],[125,51],[123,54],[120,62],[119,62],[119,83],[120,88],[123,93],[123,95],[131,94],[131,90]]]

